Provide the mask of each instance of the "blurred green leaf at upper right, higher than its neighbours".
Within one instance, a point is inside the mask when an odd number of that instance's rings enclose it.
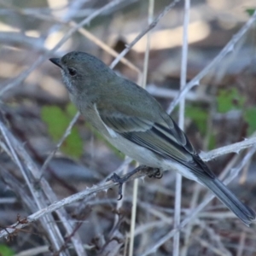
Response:
[[[219,113],[227,113],[232,109],[242,109],[245,97],[241,96],[236,88],[230,90],[219,90],[217,105]]]

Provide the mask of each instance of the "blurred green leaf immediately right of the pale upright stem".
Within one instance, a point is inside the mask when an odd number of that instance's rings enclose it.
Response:
[[[195,125],[198,127],[201,134],[206,134],[208,119],[208,113],[206,109],[188,105],[186,108],[185,116],[195,122]]]

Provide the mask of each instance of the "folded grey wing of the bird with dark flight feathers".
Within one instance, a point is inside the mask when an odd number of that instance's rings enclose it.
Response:
[[[183,131],[169,116],[168,124],[165,119],[161,122],[153,122],[117,112],[102,111],[100,116],[104,124],[120,136],[148,148],[165,159],[176,160],[194,172],[196,177],[215,177],[195,153],[195,149]]]

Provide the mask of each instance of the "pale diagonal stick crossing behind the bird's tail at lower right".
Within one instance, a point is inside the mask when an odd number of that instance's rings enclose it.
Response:
[[[234,179],[234,177],[237,176],[238,172],[241,171],[241,169],[243,168],[243,166],[245,166],[247,164],[247,161],[251,159],[251,157],[253,156],[253,154],[256,151],[256,147],[253,147],[249,150],[249,152],[245,155],[245,157],[243,158],[243,160],[241,160],[241,164],[239,166],[237,166],[234,170],[232,170],[232,173],[230,175],[230,177],[226,178],[224,180],[224,184],[228,184],[230,183],[230,181],[232,181]],[[184,218],[184,220],[182,221],[182,223],[179,225],[179,227],[175,230],[172,230],[171,232],[169,232],[168,234],[166,234],[166,236],[163,236],[159,241],[157,241],[153,247],[149,248],[147,252],[143,253],[142,256],[147,256],[150,253],[154,253],[156,252],[156,250],[163,245],[166,241],[170,240],[177,232],[179,232],[180,230],[183,229],[183,227],[186,224],[189,224],[189,222],[191,221],[191,219],[195,218],[196,215],[201,212],[201,210],[207,206],[207,204],[212,201],[212,199],[215,197],[215,195],[208,195],[207,198],[201,202],[201,204],[195,208],[194,211],[189,212],[189,216],[187,218]]]

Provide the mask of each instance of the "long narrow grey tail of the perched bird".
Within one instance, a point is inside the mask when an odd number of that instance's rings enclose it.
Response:
[[[250,207],[244,205],[217,177],[213,179],[203,177],[201,178],[201,183],[204,183],[208,189],[211,189],[218,199],[226,207],[230,208],[244,224],[249,226],[253,219],[255,219],[255,212]]]

